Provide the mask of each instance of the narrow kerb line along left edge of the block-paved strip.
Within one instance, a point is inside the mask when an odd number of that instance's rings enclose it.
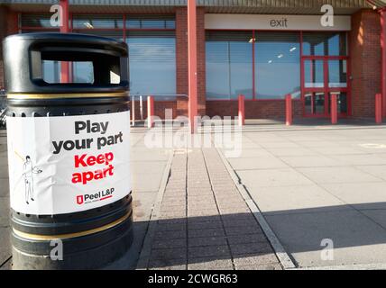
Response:
[[[157,229],[157,220],[159,219],[159,214],[161,211],[161,203],[163,199],[163,194],[165,193],[166,185],[168,184],[168,179],[170,176],[170,168],[173,160],[174,151],[170,153],[170,157],[168,159],[168,163],[165,166],[165,170],[162,175],[162,180],[160,184],[160,189],[157,193],[157,199],[154,202],[154,206],[152,208],[152,214],[149,220],[149,228],[147,229],[146,235],[143,240],[142,250],[140,257],[138,258],[136,269],[138,270],[146,270],[149,266],[149,261],[152,252],[152,242],[154,240],[155,232]]]

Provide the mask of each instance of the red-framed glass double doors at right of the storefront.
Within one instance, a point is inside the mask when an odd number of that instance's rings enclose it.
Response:
[[[347,115],[349,107],[347,60],[329,57],[302,59],[302,101],[306,117],[328,117],[331,94],[337,95],[339,115]]]

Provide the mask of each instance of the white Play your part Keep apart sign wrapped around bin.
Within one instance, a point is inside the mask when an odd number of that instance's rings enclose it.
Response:
[[[130,112],[8,117],[6,124],[14,211],[86,211],[130,193]]]

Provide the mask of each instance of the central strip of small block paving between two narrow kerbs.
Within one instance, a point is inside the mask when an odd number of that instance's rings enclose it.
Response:
[[[138,269],[281,269],[216,148],[174,154]]]

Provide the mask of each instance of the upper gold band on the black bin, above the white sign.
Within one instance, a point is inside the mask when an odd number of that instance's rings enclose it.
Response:
[[[128,92],[113,93],[58,93],[58,94],[7,94],[8,99],[64,99],[64,98],[101,98],[101,97],[124,97]]]

